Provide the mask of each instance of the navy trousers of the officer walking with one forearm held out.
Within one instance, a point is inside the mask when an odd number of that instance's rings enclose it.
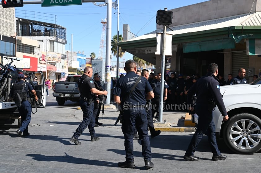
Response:
[[[88,127],[91,137],[95,138],[96,134],[94,130],[95,118],[93,116],[93,103],[91,103],[91,105],[88,105],[86,101],[81,99],[80,106],[83,112],[83,119],[82,123],[79,125],[79,127],[73,134],[73,137],[75,139],[78,139],[82,132]]]

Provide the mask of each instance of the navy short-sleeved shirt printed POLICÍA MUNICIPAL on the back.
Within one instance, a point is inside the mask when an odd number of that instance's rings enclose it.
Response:
[[[124,105],[124,102],[125,104],[130,105],[146,104],[145,94],[152,91],[152,88],[148,80],[143,76],[134,91],[127,98],[125,98],[131,88],[135,85],[138,78],[139,75],[137,75],[134,71],[129,71],[125,76],[119,78],[117,81],[113,94],[120,97],[122,105]]]

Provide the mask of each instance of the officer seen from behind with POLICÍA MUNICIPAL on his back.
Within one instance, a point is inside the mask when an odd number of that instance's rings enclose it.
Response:
[[[131,88],[135,85],[135,82],[140,76],[136,74],[137,66],[133,60],[126,61],[124,70],[126,71],[126,75],[119,78],[114,90],[114,101],[122,106],[122,132],[124,135],[124,146],[126,152],[126,161],[118,162],[118,167],[135,167],[133,156],[133,136],[136,124],[139,138],[141,139],[145,168],[149,169],[154,165],[153,162],[151,162],[151,148],[148,137],[148,120],[145,104],[146,100],[154,97],[154,93],[148,80],[141,77],[141,80],[134,91],[129,94]],[[126,95],[128,95],[128,97],[126,97]]]

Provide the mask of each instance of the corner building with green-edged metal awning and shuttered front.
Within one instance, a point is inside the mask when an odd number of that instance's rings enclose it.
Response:
[[[246,79],[261,75],[261,2],[246,0],[210,0],[202,3],[171,9],[172,24],[167,34],[172,35],[171,55],[165,67],[167,72],[200,76],[206,74],[209,63],[219,65],[219,74],[227,79],[232,73],[237,76],[239,68],[246,69]],[[118,45],[127,51],[156,65],[161,71],[161,55],[157,51],[157,30],[122,41]],[[259,74],[260,73],[260,74]]]

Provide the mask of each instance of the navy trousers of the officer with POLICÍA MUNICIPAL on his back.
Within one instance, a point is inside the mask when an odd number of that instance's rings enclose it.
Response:
[[[151,160],[151,148],[148,137],[148,119],[144,108],[137,110],[123,110],[122,132],[124,135],[124,146],[126,161],[134,159],[133,156],[133,136],[135,124],[141,139],[142,155],[144,159]]]

